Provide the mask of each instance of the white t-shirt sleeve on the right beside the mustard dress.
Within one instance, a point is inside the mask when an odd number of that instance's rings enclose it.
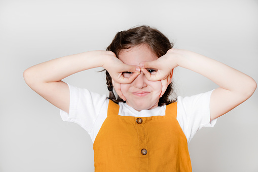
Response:
[[[188,143],[202,127],[213,127],[217,121],[210,121],[210,95],[213,90],[177,98],[177,121],[187,137]]]

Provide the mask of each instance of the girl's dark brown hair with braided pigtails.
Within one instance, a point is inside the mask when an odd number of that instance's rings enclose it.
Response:
[[[106,48],[107,51],[112,51],[119,57],[121,50],[129,49],[137,45],[148,45],[149,48],[153,51],[157,57],[161,57],[167,53],[169,49],[173,47],[173,43],[170,43],[167,37],[163,35],[156,28],[151,28],[150,26],[138,26],[130,28],[129,30],[124,30],[117,32],[112,43]],[[109,91],[109,99],[112,99],[118,104],[118,102],[123,101],[119,96],[115,96],[113,92],[112,78],[109,73],[106,71],[106,84]],[[159,99],[158,106],[168,105],[171,102],[176,101],[176,96],[173,96],[173,100],[169,99],[169,96],[173,93],[173,84],[170,83],[167,87],[167,90],[163,96]]]

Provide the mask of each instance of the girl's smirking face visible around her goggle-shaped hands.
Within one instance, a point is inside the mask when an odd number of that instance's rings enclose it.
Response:
[[[157,60],[158,57],[148,46],[139,45],[122,50],[119,53],[119,59],[125,64],[139,65],[140,62]],[[151,68],[147,70],[152,74],[156,72]],[[129,77],[132,74],[123,73],[123,75]],[[137,111],[158,107],[161,90],[161,81],[149,81],[142,72],[132,83],[121,84],[121,92],[126,98],[127,105]]]

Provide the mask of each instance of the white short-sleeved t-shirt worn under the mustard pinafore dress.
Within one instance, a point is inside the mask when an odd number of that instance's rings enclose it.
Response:
[[[98,131],[107,117],[109,99],[106,95],[100,95],[87,89],[69,85],[70,107],[69,114],[60,110],[63,121],[75,122],[83,127],[91,136],[94,143]],[[213,127],[216,119],[210,122],[210,95],[213,90],[197,94],[191,97],[177,97],[177,121],[188,143],[194,134],[202,127]],[[152,110],[134,110],[126,103],[119,103],[121,116],[150,117],[164,116],[166,105]]]

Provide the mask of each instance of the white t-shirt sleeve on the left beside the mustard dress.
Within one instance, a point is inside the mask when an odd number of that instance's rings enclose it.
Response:
[[[61,118],[63,121],[77,123],[90,134],[98,115],[107,113],[108,98],[106,95],[67,85],[70,90],[69,114],[60,110]]]

